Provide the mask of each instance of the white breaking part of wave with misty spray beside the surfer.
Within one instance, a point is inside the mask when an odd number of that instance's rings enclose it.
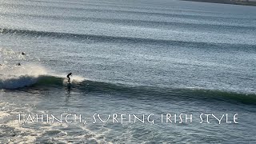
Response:
[[[34,85],[62,86],[67,82],[65,75],[50,74],[43,66],[27,64],[24,66],[1,66],[0,89],[17,89]],[[83,78],[74,77],[73,83]]]

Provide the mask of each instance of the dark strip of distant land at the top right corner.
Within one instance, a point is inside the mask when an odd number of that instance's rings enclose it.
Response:
[[[233,4],[233,5],[256,6],[256,0],[182,0],[182,1],[212,2],[212,3]]]

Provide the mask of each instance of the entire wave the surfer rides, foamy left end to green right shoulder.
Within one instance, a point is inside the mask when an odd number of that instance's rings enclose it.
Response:
[[[244,104],[256,105],[256,94],[240,94],[222,90],[204,90],[192,88],[172,88],[158,86],[127,86],[122,84],[114,84],[110,82],[96,82],[83,78],[72,78],[72,90],[81,90],[82,92],[98,93],[98,94],[114,94],[129,98],[142,98],[151,100],[174,100],[174,101],[226,101],[241,102]],[[41,87],[59,87],[66,85],[64,76],[54,75],[23,75],[17,78],[7,78],[0,80],[1,89],[40,89]],[[26,88],[27,87],[27,88]]]

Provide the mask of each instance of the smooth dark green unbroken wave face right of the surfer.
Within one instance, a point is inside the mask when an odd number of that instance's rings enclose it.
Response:
[[[256,94],[239,94],[224,90],[205,90],[199,88],[175,88],[158,86],[124,86],[107,82],[84,81],[78,86],[87,93],[125,95],[128,98],[150,99],[152,101],[202,101],[202,102],[241,102],[255,105]]]

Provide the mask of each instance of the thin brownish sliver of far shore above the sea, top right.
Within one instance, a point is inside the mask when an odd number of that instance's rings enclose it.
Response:
[[[207,2],[207,3],[222,3],[229,5],[242,5],[242,6],[256,6],[255,2],[238,2],[238,1],[230,1],[230,0],[181,0],[181,1],[190,1],[190,2]]]

